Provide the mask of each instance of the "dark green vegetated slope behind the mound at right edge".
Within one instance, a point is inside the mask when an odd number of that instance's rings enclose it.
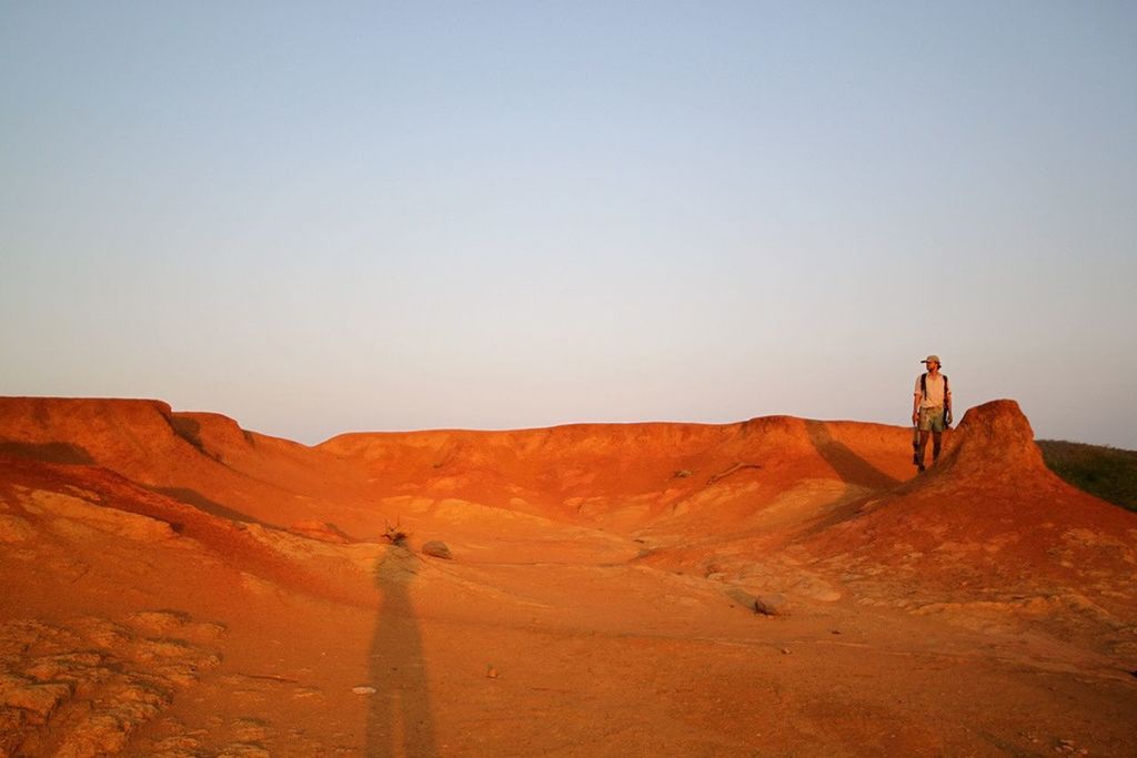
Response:
[[[1137,450],[1038,440],[1052,472],[1076,488],[1137,511]]]

